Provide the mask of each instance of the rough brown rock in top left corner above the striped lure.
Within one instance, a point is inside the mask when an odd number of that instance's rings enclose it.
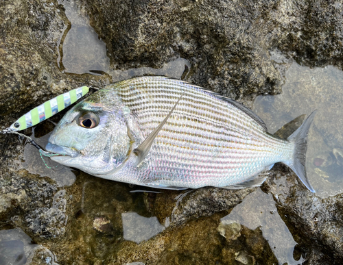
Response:
[[[84,84],[108,83],[106,77],[66,75],[58,69],[58,43],[68,26],[55,0],[0,3],[0,112],[22,112]],[[28,111],[29,109],[27,109]]]

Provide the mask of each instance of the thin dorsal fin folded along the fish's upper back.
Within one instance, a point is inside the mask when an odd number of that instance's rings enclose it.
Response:
[[[165,77],[167,79],[174,79],[174,78],[171,78],[171,77]],[[245,105],[233,100],[233,99],[229,99],[228,97],[224,97],[222,96],[221,94],[218,94],[217,92],[213,92],[212,90],[209,90],[207,88],[202,88],[201,86],[196,86],[196,85],[193,85],[187,81],[183,81],[183,80],[179,80],[179,79],[174,79],[175,81],[179,81],[181,83],[184,83],[184,84],[189,84],[195,88],[198,88],[199,90],[203,90],[204,92],[208,92],[208,93],[211,93],[213,94],[213,96],[215,96],[217,99],[222,99],[224,101],[226,101],[227,103],[230,103],[231,105],[234,105],[237,109],[241,110],[242,112],[244,112],[245,114],[247,114],[248,116],[250,116],[250,118],[252,118],[254,121],[256,121],[259,125],[261,125],[263,131],[268,131],[267,129],[267,125],[265,125],[265,123],[262,121],[262,119],[257,116],[257,114],[255,114],[254,112],[252,112],[252,110],[246,108]]]

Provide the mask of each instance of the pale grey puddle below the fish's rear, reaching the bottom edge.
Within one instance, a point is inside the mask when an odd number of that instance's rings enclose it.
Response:
[[[297,265],[305,261],[294,260],[293,250],[297,243],[279,216],[271,194],[265,194],[258,189],[249,194],[243,203],[237,205],[221,221],[237,222],[252,230],[260,227],[263,237],[268,240],[280,264],[287,262],[289,265]]]

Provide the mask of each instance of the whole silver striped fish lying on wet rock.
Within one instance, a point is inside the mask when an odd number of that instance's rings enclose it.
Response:
[[[283,139],[233,99],[187,81],[134,77],[74,105],[46,149],[95,177],[175,190],[261,186],[261,173],[283,162],[315,192],[305,171],[315,114]]]

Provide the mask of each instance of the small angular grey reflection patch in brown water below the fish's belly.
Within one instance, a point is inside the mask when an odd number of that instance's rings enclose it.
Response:
[[[123,212],[123,238],[139,244],[161,233],[165,227],[158,222],[157,217],[144,217],[136,212]]]

